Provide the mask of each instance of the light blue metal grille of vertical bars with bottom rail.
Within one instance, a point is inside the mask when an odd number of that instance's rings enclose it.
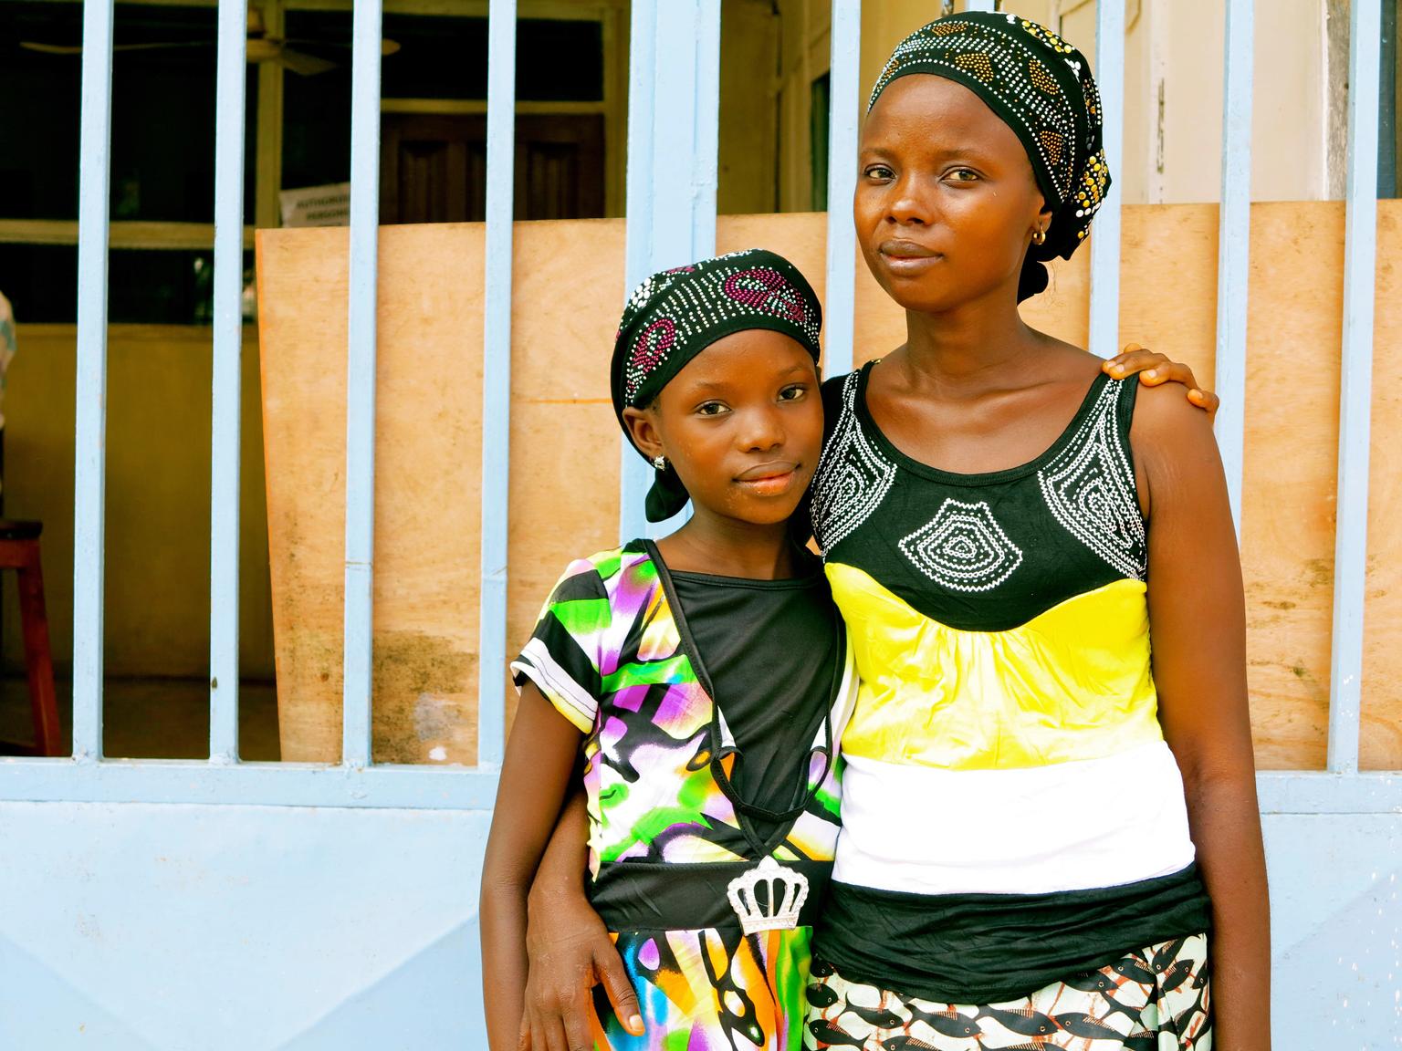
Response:
[[[993,0],[967,0],[993,10]],[[1251,221],[1252,0],[1228,0],[1223,212],[1217,321],[1217,420],[1232,510],[1239,523],[1244,446],[1248,231]],[[1124,3],[1098,6],[1096,67],[1106,154],[1119,164],[1124,102]],[[1267,813],[1384,813],[1402,809],[1402,783],[1359,772],[1364,556],[1368,503],[1373,289],[1377,245],[1380,0],[1352,4],[1347,242],[1339,521],[1328,771],[1260,775]],[[857,149],[859,0],[831,6],[829,193],[851,198]],[[352,111],[349,390],[346,415],[345,706],[339,765],[244,764],[238,724],[240,284],[243,270],[243,0],[220,0],[213,327],[213,483],[210,533],[210,747],[199,761],[102,758],[102,559],[107,397],[107,258],[112,83],[112,3],[87,0],[79,212],[77,481],[74,556],[73,757],[0,762],[0,797],[230,802],[336,806],[485,807],[503,754],[505,682],[482,675],[475,768],[372,762],[370,640],[374,485],[376,247],[380,128],[380,0],[356,0]],[[1360,27],[1363,29],[1360,31]],[[506,537],[512,297],[515,0],[491,0],[488,223],[484,348],[481,667],[506,661]],[[631,28],[627,175],[627,283],[715,248],[719,0],[635,0]],[[679,41],[687,46],[677,48]],[[1092,238],[1091,349],[1119,345],[1119,189]],[[829,374],[852,363],[854,234],[843,209],[829,216]],[[620,298],[625,289],[620,290]],[[488,455],[485,450],[492,450]],[[622,462],[624,535],[646,531],[645,465]]]

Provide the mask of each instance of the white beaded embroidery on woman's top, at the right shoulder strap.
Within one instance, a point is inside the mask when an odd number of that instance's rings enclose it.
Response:
[[[1148,576],[1134,465],[1120,441],[1119,383],[1106,383],[1056,460],[1037,471],[1042,497],[1067,533],[1127,577]]]

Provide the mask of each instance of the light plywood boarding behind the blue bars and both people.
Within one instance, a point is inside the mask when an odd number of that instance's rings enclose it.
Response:
[[[735,216],[719,251],[784,252],[823,293],[820,214]],[[1381,206],[1380,348],[1402,338],[1402,203]],[[516,227],[509,645],[564,566],[617,542],[618,430],[607,362],[621,310],[620,220]],[[345,231],[259,235],[272,582],[282,747],[339,750],[345,457]],[[1217,209],[1124,212],[1122,332],[1211,383]],[[1328,723],[1343,209],[1256,205],[1252,226],[1244,563],[1263,768],[1321,768]],[[482,233],[381,233],[376,537],[376,755],[472,761]],[[1028,321],[1084,343],[1088,254],[1053,268]],[[858,269],[857,359],[904,338],[901,311]],[[1402,376],[1380,353],[1363,762],[1402,768]],[[1213,582],[1204,580],[1203,587]],[[1394,597],[1396,596],[1396,597]],[[503,671],[505,674],[505,671]]]

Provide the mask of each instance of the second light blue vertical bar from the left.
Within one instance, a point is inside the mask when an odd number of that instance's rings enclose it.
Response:
[[[209,507],[209,758],[238,761],[238,443],[244,284],[244,0],[219,0],[215,364]]]

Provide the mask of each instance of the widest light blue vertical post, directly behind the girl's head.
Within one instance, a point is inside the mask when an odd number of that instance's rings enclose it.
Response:
[[[649,273],[715,255],[719,0],[634,0],[628,63],[624,294]],[[648,523],[651,481],[651,468],[622,439],[618,528],[625,538],[660,535],[676,523]]]

